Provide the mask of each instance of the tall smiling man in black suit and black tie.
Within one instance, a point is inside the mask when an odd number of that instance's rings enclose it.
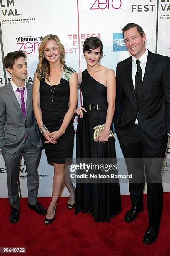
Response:
[[[122,33],[132,56],[117,64],[115,130],[128,172],[135,176],[129,182],[132,207],[124,220],[135,220],[144,209],[145,170],[149,225],[143,241],[153,243],[162,214],[161,169],[170,133],[170,58],[145,48],[146,35],[138,24],[127,24]]]

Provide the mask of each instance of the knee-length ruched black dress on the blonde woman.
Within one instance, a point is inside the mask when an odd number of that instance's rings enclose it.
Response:
[[[69,79],[74,69],[65,67],[62,72],[60,83],[52,86],[45,82],[45,78],[40,81],[40,108],[42,111],[42,120],[46,128],[50,131],[57,131],[62,125],[65,113],[68,110],[69,102]],[[55,90],[54,90],[55,87]],[[52,102],[52,93],[53,102]],[[45,137],[40,133],[42,141]],[[67,126],[65,133],[57,140],[56,144],[44,144],[47,161],[54,163],[65,163],[65,159],[72,158],[74,142],[74,127],[72,120]]]

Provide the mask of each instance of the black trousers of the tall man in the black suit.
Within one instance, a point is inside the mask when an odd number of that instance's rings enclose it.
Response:
[[[160,141],[159,148],[148,145],[140,131],[140,125],[134,125],[124,137],[119,138],[120,147],[125,157],[128,174],[132,173],[133,183],[129,182],[132,205],[143,207],[143,189],[147,182],[147,207],[149,227],[159,228],[163,209],[163,184],[161,170],[168,143]]]

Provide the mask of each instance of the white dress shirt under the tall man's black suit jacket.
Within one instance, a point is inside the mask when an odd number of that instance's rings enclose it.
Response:
[[[142,82],[143,82],[143,77],[145,74],[145,68],[146,68],[146,62],[148,59],[148,49],[146,49],[145,53],[139,58],[140,61],[140,67],[142,69]],[[132,78],[133,78],[133,86],[135,88],[135,76],[136,76],[136,72],[137,72],[137,64],[136,64],[137,59],[132,56]],[[136,118],[135,124],[139,124],[138,123],[138,118]]]

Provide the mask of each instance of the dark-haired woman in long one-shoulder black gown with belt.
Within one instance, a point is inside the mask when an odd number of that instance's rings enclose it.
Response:
[[[77,158],[116,158],[114,138],[109,138],[115,110],[115,72],[99,64],[102,42],[97,37],[84,41],[87,69],[78,74],[83,105],[77,108]],[[98,104],[98,105],[97,105]],[[91,110],[90,110],[91,109]],[[93,141],[93,127],[105,124],[98,142]],[[110,221],[121,211],[118,183],[80,184],[77,182],[75,214],[92,212],[95,221]]]

